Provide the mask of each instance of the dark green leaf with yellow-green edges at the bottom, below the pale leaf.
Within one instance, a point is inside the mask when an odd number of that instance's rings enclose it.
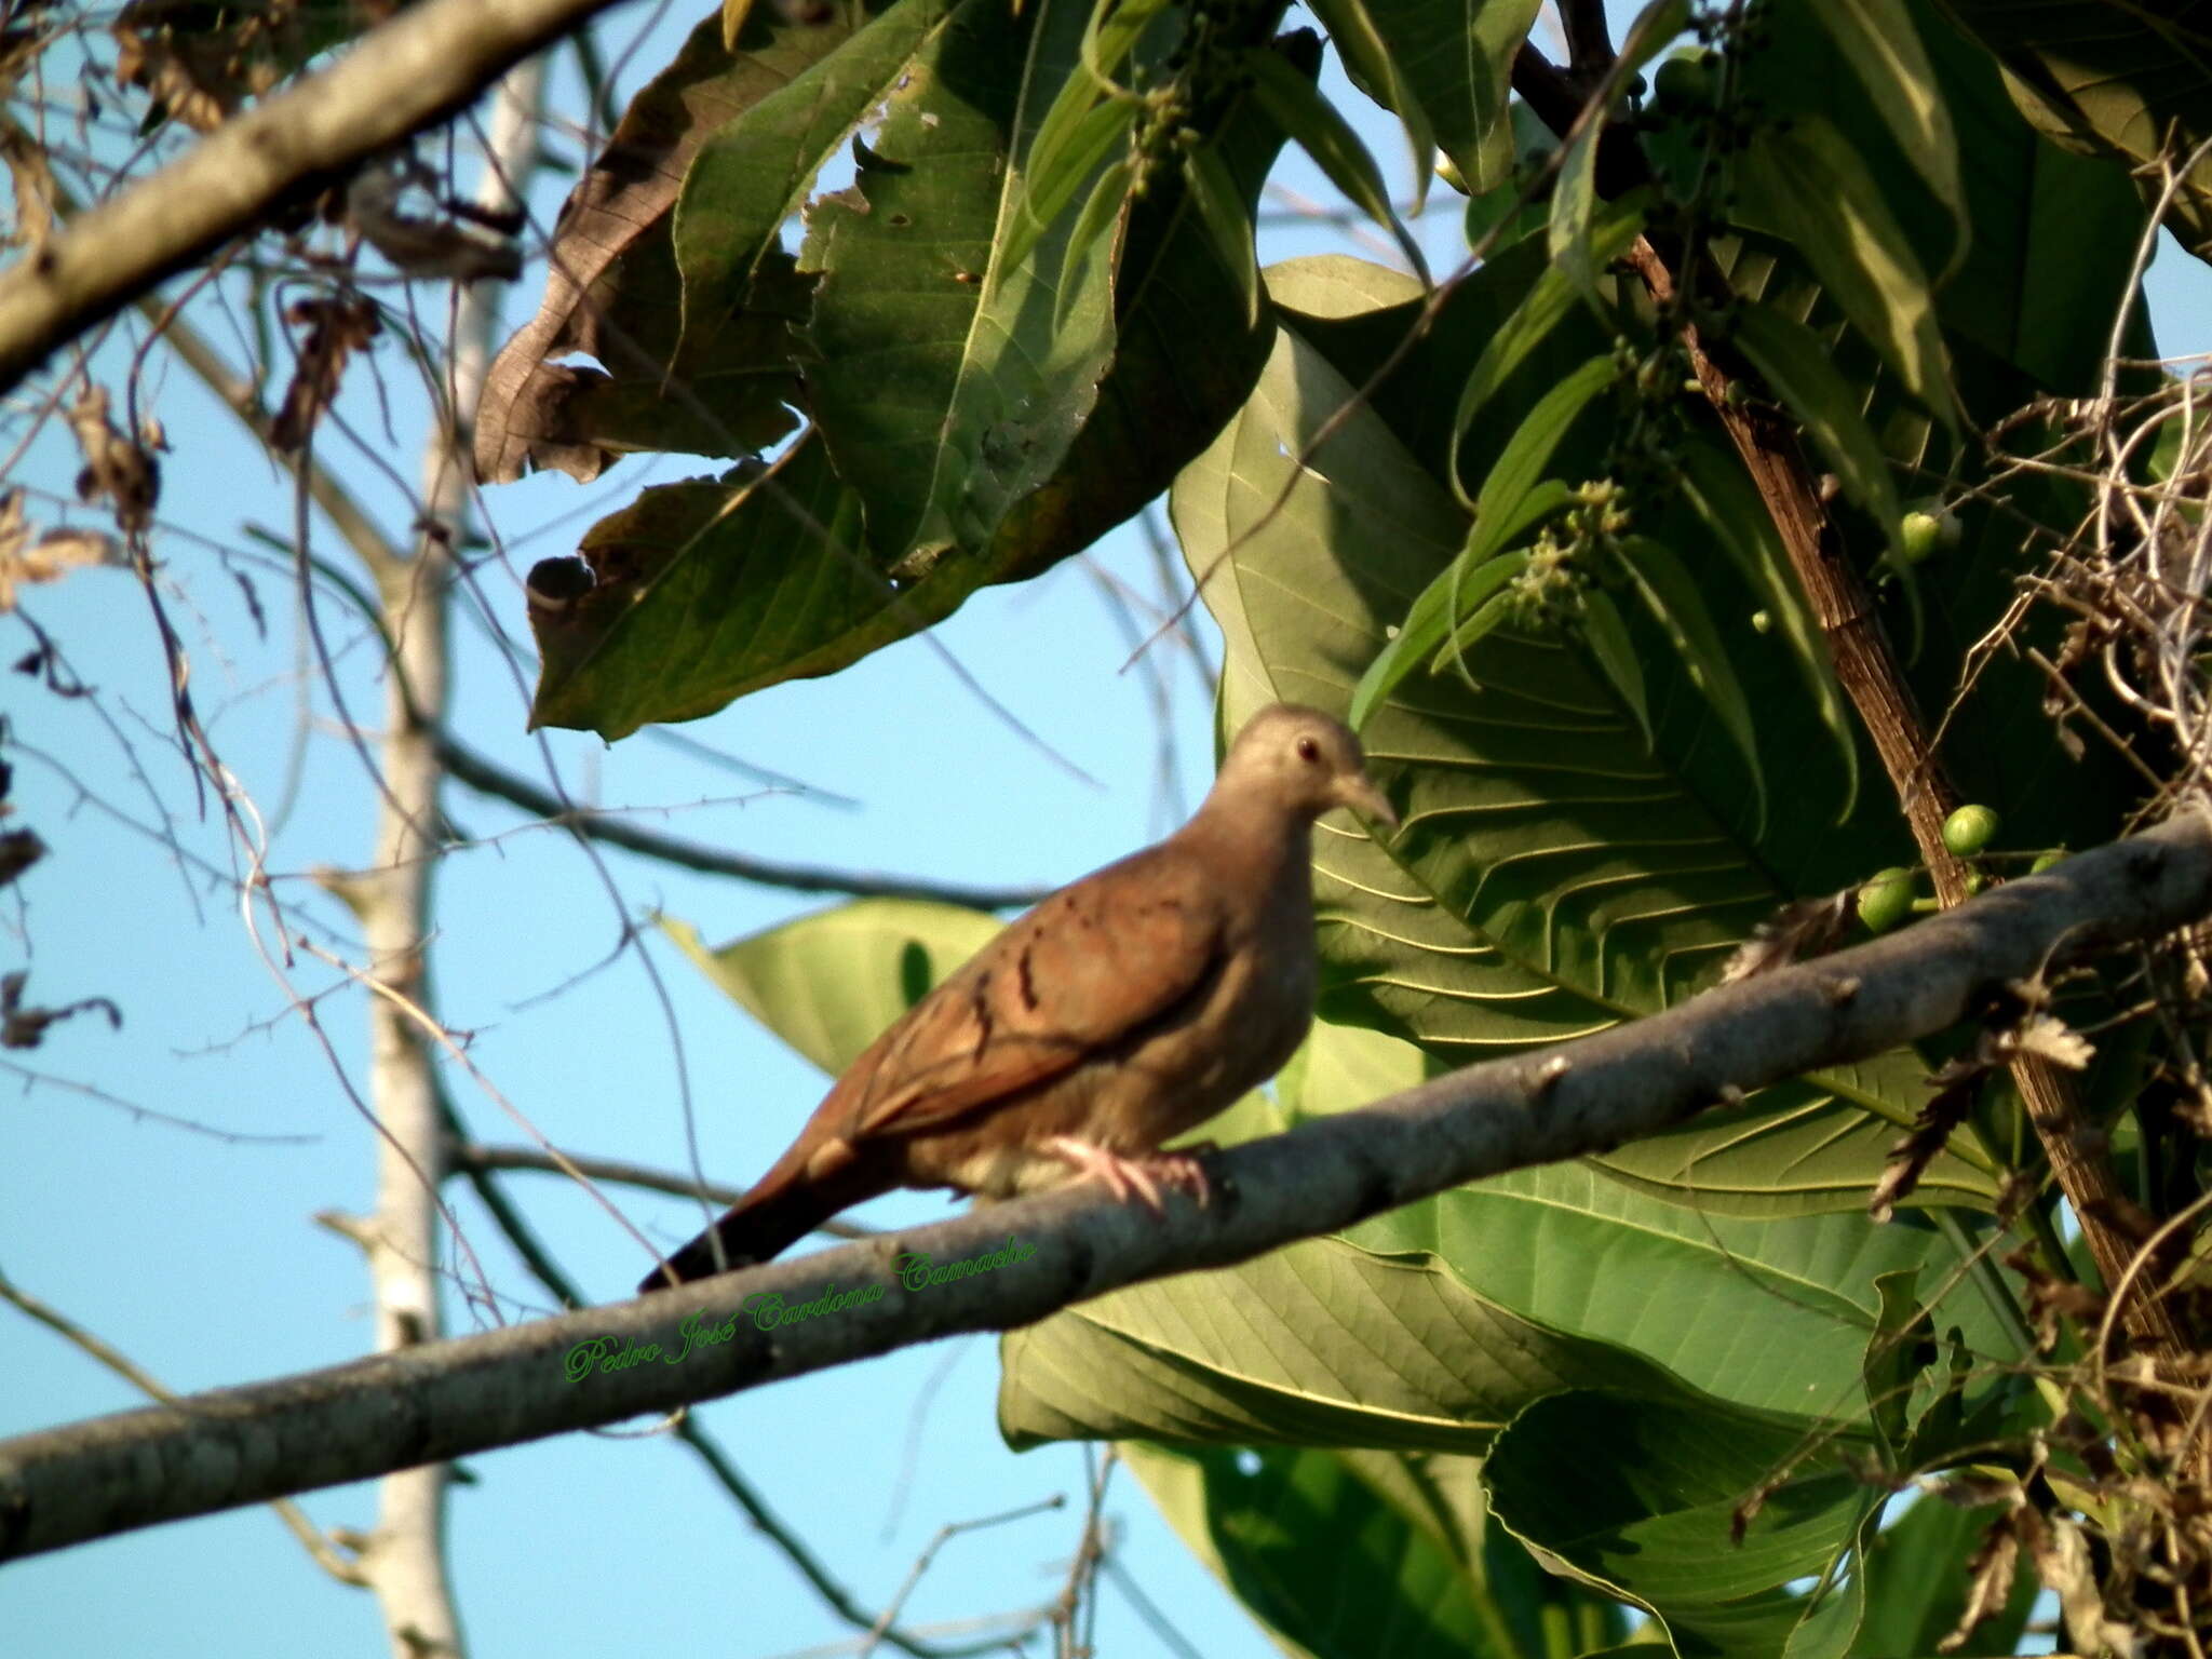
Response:
[[[1551,1577],[1482,1511],[1473,1458],[1124,1442],[1192,1553],[1292,1655],[1535,1659],[1626,1637],[1626,1610]]]

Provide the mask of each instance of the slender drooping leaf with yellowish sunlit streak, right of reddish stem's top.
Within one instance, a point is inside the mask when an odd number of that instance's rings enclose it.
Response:
[[[1936,301],[1920,257],[1865,164],[1818,115],[1761,133],[1736,155],[1739,188],[1785,226],[1845,316],[1898,372],[1905,389],[1955,420]]]

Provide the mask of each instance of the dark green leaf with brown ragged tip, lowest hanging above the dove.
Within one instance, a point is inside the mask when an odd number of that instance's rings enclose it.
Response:
[[[1318,46],[1294,35],[1279,51],[1310,73]],[[1265,119],[1228,119],[1219,148],[1245,201],[1276,144]],[[1097,257],[1108,246],[1097,241]],[[1042,243],[1029,270],[1053,250]],[[1086,418],[1037,489],[1000,502],[989,544],[933,560],[885,553],[863,538],[860,493],[832,465],[818,429],[779,456],[765,480],[745,469],[650,489],[586,533],[595,580],[580,584],[584,593],[531,611],[544,655],[533,719],[613,739],[710,714],[761,686],[834,672],[951,615],[982,584],[1035,575],[1139,511],[1243,398],[1267,336],[1245,325],[1175,179],[1126,210],[1115,259],[1113,361],[1095,396],[1060,389],[1051,407],[1088,398]],[[1055,294],[1040,285],[1031,299],[1048,325]],[[1192,352],[1192,338],[1208,349]],[[971,392],[971,414],[995,396]],[[964,498],[967,509],[982,511],[984,495],[1031,476],[1022,445],[1018,420],[984,427],[980,476],[991,484]]]

